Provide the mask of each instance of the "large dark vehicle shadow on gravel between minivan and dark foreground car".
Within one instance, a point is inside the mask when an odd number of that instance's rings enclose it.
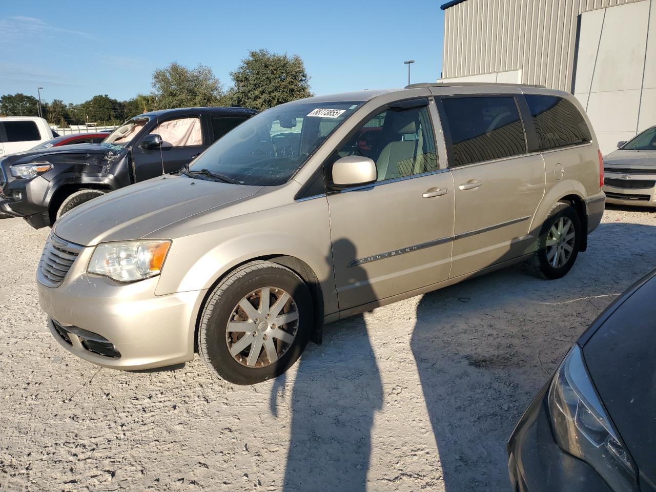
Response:
[[[584,329],[656,266],[655,240],[653,226],[601,224],[562,279],[515,266],[420,298],[410,345],[447,492],[510,488],[514,425]]]

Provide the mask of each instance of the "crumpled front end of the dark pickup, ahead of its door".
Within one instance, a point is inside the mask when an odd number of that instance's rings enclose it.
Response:
[[[77,144],[30,150],[0,159],[0,218],[52,225],[66,197],[81,189],[110,192],[133,182],[129,150]]]

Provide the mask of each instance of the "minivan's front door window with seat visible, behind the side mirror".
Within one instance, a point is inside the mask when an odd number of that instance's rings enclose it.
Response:
[[[347,155],[372,159],[377,181],[436,171],[438,156],[428,107],[380,112],[338,152],[338,157]]]

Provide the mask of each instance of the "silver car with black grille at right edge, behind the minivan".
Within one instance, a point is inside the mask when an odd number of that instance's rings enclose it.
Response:
[[[656,126],[604,157],[608,203],[656,207]]]

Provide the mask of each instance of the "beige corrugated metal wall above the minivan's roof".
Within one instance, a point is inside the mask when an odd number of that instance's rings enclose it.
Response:
[[[641,0],[465,0],[445,10],[442,78],[522,70],[571,91],[577,18]]]

